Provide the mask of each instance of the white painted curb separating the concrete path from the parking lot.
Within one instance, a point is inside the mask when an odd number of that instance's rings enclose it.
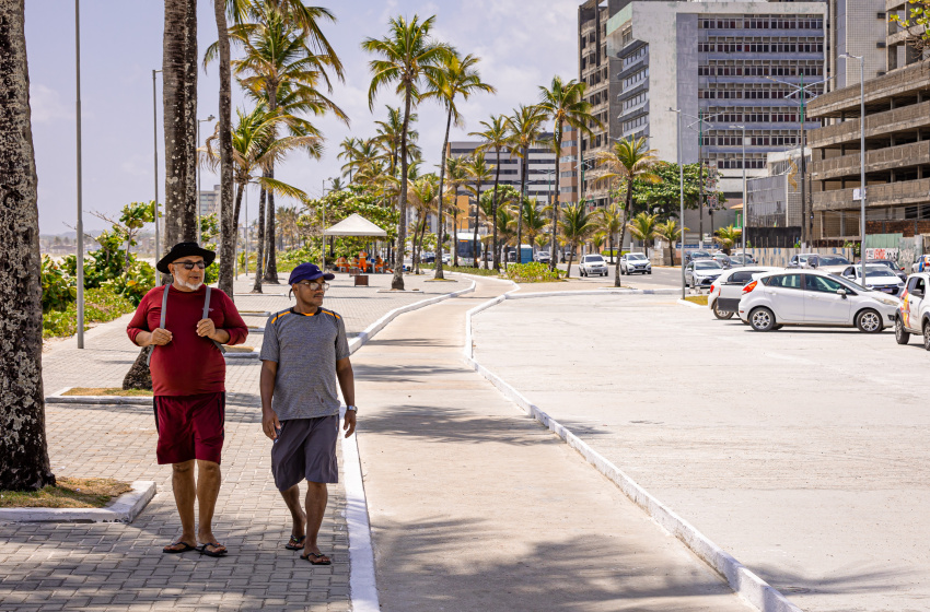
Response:
[[[662,290],[659,290],[662,291]],[[679,290],[675,290],[679,291]],[[569,293],[576,295],[583,292],[553,292],[524,294],[520,297],[548,297]],[[740,597],[760,612],[802,612],[800,608],[791,603],[788,598],[771,587],[768,582],[756,576],[746,566],[736,561],[730,553],[710,541],[704,533],[693,525],[675,514],[671,508],[655,498],[652,494],[640,486],[635,480],[623,472],[618,467],[608,461],[603,455],[591,448],[585,442],[574,435],[561,423],[543,412],[537,405],[526,399],[520,391],[507,381],[479,364],[474,357],[472,338],[472,317],[481,310],[500,304],[504,299],[516,297],[505,293],[493,299],[472,308],[465,315],[465,360],[497,387],[504,397],[519,405],[526,414],[538,421],[543,426],[558,435],[566,444],[576,449],[589,463],[611,479],[624,494],[636,505],[644,509],[659,525],[685,543],[691,551],[702,558],[708,565],[726,579],[726,582]],[[686,302],[686,304],[690,304]],[[698,306],[700,308],[701,306]]]

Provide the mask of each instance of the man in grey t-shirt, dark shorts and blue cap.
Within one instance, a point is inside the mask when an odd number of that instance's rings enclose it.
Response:
[[[303,551],[313,565],[330,558],[316,545],[328,501],[327,483],[338,482],[336,439],[339,437],[339,398],[346,400],[346,437],[356,431],[356,388],[342,317],[322,307],[329,286],[313,263],[301,263],[288,284],[297,306],[269,317],[261,342],[261,427],[274,440],[271,472],[293,517],[284,545]],[[305,507],[300,482],[307,481]]]

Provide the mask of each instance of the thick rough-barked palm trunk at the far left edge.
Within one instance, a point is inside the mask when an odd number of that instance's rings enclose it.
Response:
[[[42,385],[42,274],[37,178],[23,0],[0,3],[0,490],[55,484]]]

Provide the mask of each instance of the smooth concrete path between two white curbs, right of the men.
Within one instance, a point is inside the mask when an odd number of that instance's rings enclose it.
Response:
[[[353,358],[382,609],[748,610],[465,365],[465,311],[508,287],[398,317]]]

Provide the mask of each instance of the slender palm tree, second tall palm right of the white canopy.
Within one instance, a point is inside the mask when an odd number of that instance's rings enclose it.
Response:
[[[445,107],[445,138],[442,141],[442,154],[440,155],[439,165],[439,192],[442,193],[445,188],[445,150],[449,148],[449,130],[452,122],[455,126],[462,126],[462,114],[458,113],[458,107],[455,105],[455,98],[461,96],[462,99],[468,99],[472,94],[477,92],[495,93],[496,90],[481,81],[481,76],[475,68],[480,59],[473,55],[467,55],[460,58],[458,54],[451,54],[443,61],[440,70],[434,74],[434,80],[430,81],[430,91],[426,92],[422,97],[433,97]],[[440,220],[439,235],[437,236],[437,254],[435,254],[435,274],[434,279],[444,279],[442,273],[442,200],[439,201],[437,216]],[[457,214],[456,214],[457,216]],[[455,248],[455,240],[452,243]],[[456,266],[458,254],[455,254]]]

